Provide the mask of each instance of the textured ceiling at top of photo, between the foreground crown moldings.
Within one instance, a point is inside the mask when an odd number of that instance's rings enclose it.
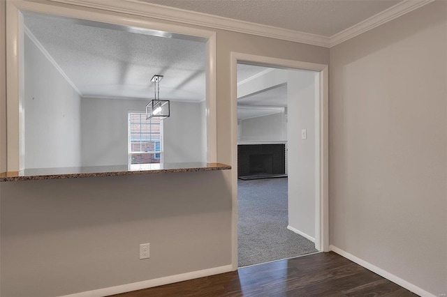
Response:
[[[330,37],[402,0],[141,0]]]

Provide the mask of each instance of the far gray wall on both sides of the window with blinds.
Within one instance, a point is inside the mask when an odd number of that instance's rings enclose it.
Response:
[[[128,163],[128,114],[145,112],[144,100],[82,98],[82,166]],[[205,160],[200,103],[170,102],[163,120],[164,162]]]

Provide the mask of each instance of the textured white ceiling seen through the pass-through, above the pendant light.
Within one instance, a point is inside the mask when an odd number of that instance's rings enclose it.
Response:
[[[32,14],[25,15],[24,23],[84,97],[152,98],[152,76],[164,75],[161,98],[205,98],[203,42]]]

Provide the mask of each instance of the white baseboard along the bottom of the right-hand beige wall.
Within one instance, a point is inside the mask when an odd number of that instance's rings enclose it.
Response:
[[[412,291],[414,294],[418,294],[419,296],[424,297],[437,297],[423,289],[420,289],[420,287],[416,287],[414,284],[411,284],[410,282],[407,282],[406,280],[402,280],[402,278],[397,277],[396,275],[393,275],[392,273],[389,273],[388,271],[384,271],[382,268],[379,268],[377,266],[374,266],[367,261],[364,261],[353,254],[349,254],[349,252],[345,252],[344,250],[341,250],[334,245],[329,245],[329,250],[332,250],[333,252],[336,252],[342,257],[345,257],[346,259],[349,259],[355,263],[357,263],[360,266],[363,266],[367,268],[367,270],[372,271],[373,273],[376,273],[382,277],[385,277],[387,280],[390,280],[391,282],[394,282],[395,284],[399,284],[400,287],[404,287],[405,289]]]

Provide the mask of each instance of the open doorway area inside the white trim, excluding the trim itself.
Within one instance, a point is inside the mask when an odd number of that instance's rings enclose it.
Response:
[[[304,177],[315,176],[317,74],[237,64],[239,266],[318,252],[315,181]]]

